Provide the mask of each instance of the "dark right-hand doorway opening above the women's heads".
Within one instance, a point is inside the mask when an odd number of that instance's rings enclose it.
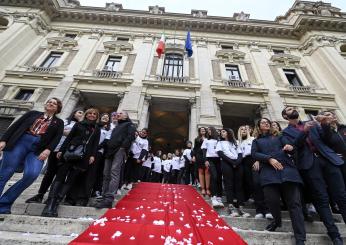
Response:
[[[222,124],[237,135],[238,128],[242,125],[254,127],[255,121],[261,117],[258,108],[259,105],[254,104],[224,103],[221,107]]]

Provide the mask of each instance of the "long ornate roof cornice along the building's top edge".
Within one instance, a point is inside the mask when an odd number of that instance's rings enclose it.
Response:
[[[71,21],[103,25],[137,26],[141,28],[164,27],[166,30],[214,32],[266,37],[299,39],[311,30],[346,31],[346,13],[326,15],[324,5],[320,12],[309,14],[295,12],[292,23],[276,21],[248,20],[237,21],[234,17],[208,16],[196,18],[188,14],[162,13],[156,15],[149,11],[122,9],[109,11],[106,8],[60,6],[57,0],[0,0],[0,5],[21,6],[44,9],[52,21]],[[323,10],[322,10],[323,9]],[[337,11],[336,11],[337,12]],[[335,12],[335,13],[336,13]],[[159,30],[158,30],[159,32]]]

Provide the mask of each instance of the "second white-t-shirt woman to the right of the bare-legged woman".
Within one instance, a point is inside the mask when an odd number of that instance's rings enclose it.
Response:
[[[221,171],[230,215],[249,217],[250,214],[244,212],[242,152],[237,146],[232,129],[221,130],[221,140],[217,143],[216,152],[221,158]],[[233,194],[237,199],[236,208],[233,206]]]

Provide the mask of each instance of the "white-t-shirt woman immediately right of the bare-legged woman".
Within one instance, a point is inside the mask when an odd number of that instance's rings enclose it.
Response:
[[[206,157],[205,165],[210,171],[211,202],[213,207],[224,207],[222,203],[222,172],[220,157],[216,152],[218,133],[214,127],[208,127],[208,139],[203,141],[201,149]]]

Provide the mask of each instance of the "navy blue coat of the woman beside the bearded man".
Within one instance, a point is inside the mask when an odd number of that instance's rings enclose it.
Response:
[[[261,186],[281,184],[284,182],[303,183],[293,159],[282,150],[284,145],[282,136],[263,135],[252,142],[251,155],[261,163],[259,172]],[[275,170],[269,163],[274,158],[283,165],[283,170]]]

